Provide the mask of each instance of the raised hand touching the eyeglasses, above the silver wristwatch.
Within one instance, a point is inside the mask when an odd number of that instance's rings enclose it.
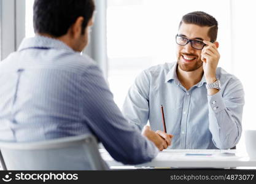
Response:
[[[206,40],[203,42],[207,44],[201,52],[201,60],[204,62],[204,77],[207,83],[214,83],[216,80],[216,69],[220,59],[220,54],[217,50],[219,43],[214,42],[212,44]]]

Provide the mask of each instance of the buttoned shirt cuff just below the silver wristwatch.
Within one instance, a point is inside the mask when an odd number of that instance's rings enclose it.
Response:
[[[222,93],[220,93],[220,91],[212,96],[208,95],[207,98],[209,102],[209,107],[212,109],[212,112],[218,113],[223,109],[226,109],[226,105],[224,103]]]

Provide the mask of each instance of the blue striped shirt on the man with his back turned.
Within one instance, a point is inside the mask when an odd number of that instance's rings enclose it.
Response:
[[[95,62],[60,40],[25,39],[0,63],[0,140],[34,142],[91,133],[117,161],[158,150],[125,120]]]

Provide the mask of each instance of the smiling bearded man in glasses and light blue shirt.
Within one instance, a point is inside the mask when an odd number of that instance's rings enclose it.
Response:
[[[218,23],[204,12],[184,15],[176,36],[177,62],[150,67],[131,86],[126,118],[142,129],[173,134],[176,149],[228,149],[241,137],[244,91],[241,82],[217,67]]]

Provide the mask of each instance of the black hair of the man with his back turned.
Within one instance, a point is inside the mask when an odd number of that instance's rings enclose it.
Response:
[[[95,3],[93,0],[35,0],[34,31],[55,37],[68,33],[68,29],[77,18],[84,18],[82,34],[93,16]]]

